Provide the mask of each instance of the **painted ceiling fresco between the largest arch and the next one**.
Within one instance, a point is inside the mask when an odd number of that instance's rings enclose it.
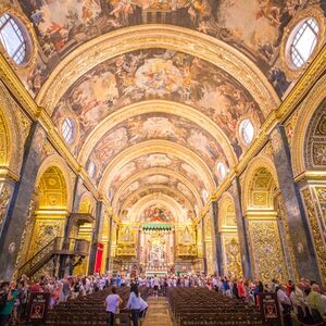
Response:
[[[55,124],[65,116],[76,120],[78,141],[71,148],[77,155],[86,137],[105,116],[150,99],[196,108],[226,134],[238,155],[242,152],[235,137],[239,121],[250,116],[256,129],[263,122],[258,104],[235,78],[203,60],[160,49],[127,53],[98,65],[66,91],[52,118]]]

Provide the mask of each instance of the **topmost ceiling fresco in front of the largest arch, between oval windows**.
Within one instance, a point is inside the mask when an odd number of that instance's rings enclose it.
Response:
[[[227,42],[249,57],[283,96],[289,86],[289,77],[278,64],[283,34],[298,12],[319,1],[20,0],[18,3],[33,23],[40,46],[37,65],[25,77],[33,95],[60,61],[86,41],[126,26],[163,23]]]

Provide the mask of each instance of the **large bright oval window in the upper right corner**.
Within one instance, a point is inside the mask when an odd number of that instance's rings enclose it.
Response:
[[[300,68],[313,53],[319,27],[314,18],[308,18],[297,25],[290,38],[290,57],[294,67]]]

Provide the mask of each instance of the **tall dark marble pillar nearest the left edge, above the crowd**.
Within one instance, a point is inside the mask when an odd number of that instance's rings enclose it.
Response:
[[[8,208],[0,238],[0,278],[11,279],[21,246],[28,206],[33,198],[35,181],[41,164],[41,150],[46,142],[46,131],[36,122],[32,125],[26,140],[21,178],[15,184],[12,200]]]

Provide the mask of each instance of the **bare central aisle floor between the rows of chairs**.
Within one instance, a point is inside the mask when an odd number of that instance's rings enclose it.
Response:
[[[149,297],[148,311],[141,326],[173,326],[167,301],[164,297]]]

